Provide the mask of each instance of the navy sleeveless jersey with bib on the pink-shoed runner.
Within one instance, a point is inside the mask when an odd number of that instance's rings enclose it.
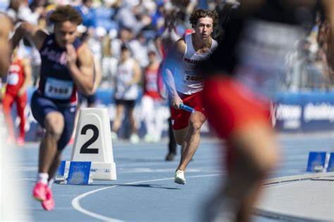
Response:
[[[78,52],[82,41],[76,38],[73,46]],[[58,46],[54,34],[50,34],[39,52],[42,58],[39,93],[57,103],[76,103],[77,89],[66,66],[66,48]]]

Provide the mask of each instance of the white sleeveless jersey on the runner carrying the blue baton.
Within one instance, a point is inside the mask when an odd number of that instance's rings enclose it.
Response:
[[[192,95],[202,91],[204,88],[204,78],[202,74],[196,71],[196,66],[206,59],[217,48],[217,41],[212,39],[211,47],[205,53],[197,53],[192,46],[192,34],[185,36],[185,54],[182,58],[182,64],[175,67],[174,80],[176,91]]]

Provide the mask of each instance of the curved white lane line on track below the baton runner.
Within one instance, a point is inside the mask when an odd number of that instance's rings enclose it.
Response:
[[[206,175],[197,175],[197,176],[187,176],[187,178],[201,178],[201,177],[209,177],[209,176],[221,176],[221,175],[224,175],[224,174],[206,174]],[[136,181],[136,182],[131,182],[131,183],[123,183],[122,185],[132,185],[132,184],[136,184],[136,183],[147,183],[147,182],[156,182],[156,181],[168,181],[168,180],[173,180],[174,178],[173,177],[170,177],[170,178],[160,178],[160,179],[154,179],[154,180],[148,180],[148,181]],[[106,189],[109,189],[109,188],[117,188],[121,185],[112,185],[110,187],[106,187],[106,188],[99,188],[97,190],[91,190],[89,192],[85,192],[85,193],[82,193],[81,195],[78,195],[78,197],[75,197],[73,200],[72,200],[72,206],[74,209],[76,209],[77,211],[81,212],[82,214],[86,214],[87,216],[91,216],[93,218],[97,218],[101,221],[111,221],[111,222],[123,222],[123,221],[120,221],[116,218],[111,218],[111,217],[108,217],[108,216],[103,216],[101,214],[96,214],[92,211],[88,211],[87,209],[84,209],[83,207],[80,206],[80,200],[82,198],[85,198],[87,197],[88,195],[92,195],[94,194],[95,192],[99,192],[101,190],[106,190]]]

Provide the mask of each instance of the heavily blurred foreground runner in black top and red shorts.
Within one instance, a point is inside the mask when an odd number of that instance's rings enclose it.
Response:
[[[204,107],[226,141],[228,165],[225,185],[208,204],[205,221],[250,220],[262,181],[279,156],[268,101],[284,72],[285,55],[315,22],[317,6],[316,0],[240,1],[223,42],[202,66]]]

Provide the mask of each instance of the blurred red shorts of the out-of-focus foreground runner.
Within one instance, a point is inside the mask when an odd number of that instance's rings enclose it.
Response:
[[[203,91],[208,121],[221,138],[228,138],[233,131],[253,122],[271,124],[270,103],[260,97],[232,77],[223,75],[206,79]]]

